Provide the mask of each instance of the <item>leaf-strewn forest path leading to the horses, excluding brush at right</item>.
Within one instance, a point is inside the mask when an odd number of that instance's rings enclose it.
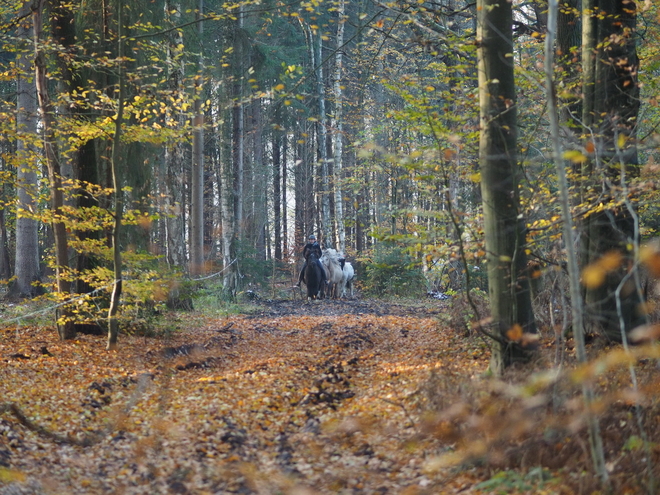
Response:
[[[1,329],[2,402],[93,445],[0,416],[0,493],[470,493],[474,473],[431,468],[450,444],[427,419],[488,352],[443,328],[443,304],[264,301],[178,314],[166,342],[117,353]]]

